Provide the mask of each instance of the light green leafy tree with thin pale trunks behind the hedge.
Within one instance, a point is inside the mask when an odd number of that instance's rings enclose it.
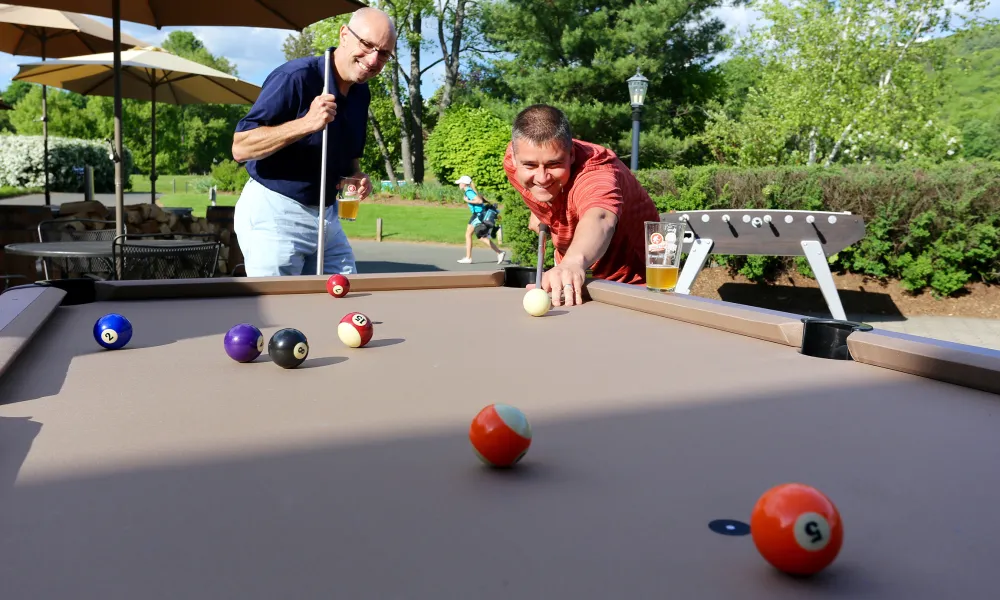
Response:
[[[759,61],[760,80],[738,115],[712,112],[704,139],[720,160],[744,165],[955,155],[957,131],[938,119],[947,52],[928,38],[983,4],[758,0],[764,25],[739,55]]]

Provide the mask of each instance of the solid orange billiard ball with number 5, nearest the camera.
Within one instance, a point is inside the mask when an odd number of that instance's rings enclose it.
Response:
[[[813,575],[837,558],[844,525],[837,507],[822,492],[785,483],[757,500],[750,535],[761,556],[779,571]]]

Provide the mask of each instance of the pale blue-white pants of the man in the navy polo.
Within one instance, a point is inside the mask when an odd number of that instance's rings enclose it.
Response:
[[[357,272],[354,250],[337,218],[326,207],[323,274]],[[316,275],[319,207],[273,192],[250,179],[236,202],[233,230],[243,251],[247,277]]]

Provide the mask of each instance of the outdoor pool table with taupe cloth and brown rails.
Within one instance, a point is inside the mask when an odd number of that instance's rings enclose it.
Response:
[[[1000,353],[875,329],[811,356],[798,315],[607,281],[531,317],[511,273],[0,295],[2,597],[995,597]],[[309,356],[236,362],[241,322]],[[532,428],[511,469],[469,442],[492,403]],[[812,577],[709,526],[785,482],[843,518]]]

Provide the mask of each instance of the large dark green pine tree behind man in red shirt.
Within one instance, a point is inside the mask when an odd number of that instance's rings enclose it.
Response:
[[[722,80],[711,66],[728,47],[709,11],[722,0],[493,0],[482,9],[485,39],[506,56],[483,66],[510,104],[561,108],[577,137],[630,152],[625,80],[649,81],[643,111],[645,166],[679,160],[679,138],[700,131],[699,105]],[[623,151],[624,150],[624,151]]]

